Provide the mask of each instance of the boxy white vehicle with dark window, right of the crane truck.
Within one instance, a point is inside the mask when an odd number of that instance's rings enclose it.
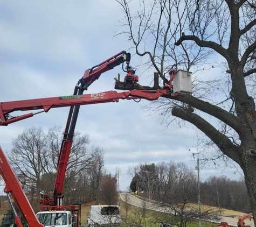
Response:
[[[118,205],[92,205],[87,227],[120,226],[121,216]]]

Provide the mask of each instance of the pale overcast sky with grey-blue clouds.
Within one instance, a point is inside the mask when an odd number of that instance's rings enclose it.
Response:
[[[123,30],[123,17],[114,0],[97,1],[1,1],[0,2],[0,97],[4,101],[72,95],[77,81],[87,68],[123,50],[130,43],[114,38]],[[132,52],[132,54],[134,54]],[[136,67],[139,60],[132,58]],[[86,93],[114,89],[113,78],[121,66],[102,74]],[[140,71],[137,72],[140,75]],[[140,84],[149,85],[140,80]],[[91,146],[105,150],[105,167],[115,173],[120,167],[120,189],[130,183],[128,166],[139,162],[184,161],[195,168],[191,157],[197,137],[192,129],[175,126],[165,129],[158,116],[142,110],[147,101],[86,105],[80,108],[76,129],[88,133]],[[69,108],[52,109],[32,118],[1,127],[0,145],[11,148],[11,140],[26,127],[45,129],[65,127]],[[189,151],[190,149],[190,151]],[[239,178],[232,170],[217,171],[214,166],[201,169],[201,178],[226,174]]]

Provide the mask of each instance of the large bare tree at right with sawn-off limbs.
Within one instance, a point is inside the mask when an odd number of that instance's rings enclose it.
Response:
[[[195,125],[210,138],[207,146],[217,147],[217,158],[231,159],[241,167],[256,217],[255,2],[117,2],[126,16],[121,22],[122,34],[127,34],[136,54],[144,56],[150,68],[161,77],[170,62],[197,72],[193,95],[167,96],[154,107],[165,117],[171,113]],[[213,55],[207,55],[207,50]],[[225,72],[215,76],[204,73],[220,65]]]

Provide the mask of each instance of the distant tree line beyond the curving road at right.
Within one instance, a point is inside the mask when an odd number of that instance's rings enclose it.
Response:
[[[181,204],[185,209],[190,203],[198,203],[197,175],[184,162],[139,164],[130,167],[129,173],[133,176],[130,183],[132,191],[139,194],[143,191],[150,200],[169,204],[172,210],[181,210]],[[244,179],[210,176],[200,182],[200,200],[202,204],[219,208],[220,212],[222,208],[251,212]]]

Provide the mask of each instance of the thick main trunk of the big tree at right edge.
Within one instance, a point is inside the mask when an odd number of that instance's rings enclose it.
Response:
[[[240,62],[229,63],[231,70],[232,89],[230,92],[234,100],[236,114],[244,123],[246,133],[239,133],[240,167],[245,175],[247,192],[250,197],[251,208],[256,224],[256,112],[252,97],[248,96],[243,76],[244,69]]]

